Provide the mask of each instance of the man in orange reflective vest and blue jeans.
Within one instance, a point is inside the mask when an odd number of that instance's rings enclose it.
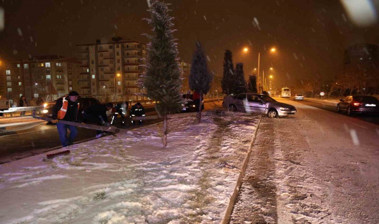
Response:
[[[80,122],[78,118],[79,111],[79,94],[76,91],[71,91],[67,97],[59,98],[52,109],[51,122],[56,123],[59,139],[63,147],[72,145],[75,137],[78,135],[78,129],[74,125],[59,123],[58,120],[66,120],[71,122]],[[67,137],[67,129],[70,130],[70,135]]]

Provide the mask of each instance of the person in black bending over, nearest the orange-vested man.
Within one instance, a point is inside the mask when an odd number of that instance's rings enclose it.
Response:
[[[108,122],[108,115],[112,113],[113,104],[107,103],[106,105],[97,104],[91,105],[88,108],[84,109],[82,112],[82,117],[84,120],[96,123],[99,126],[109,127],[111,124]],[[96,137],[99,138],[103,136],[104,132],[102,130],[96,131]]]

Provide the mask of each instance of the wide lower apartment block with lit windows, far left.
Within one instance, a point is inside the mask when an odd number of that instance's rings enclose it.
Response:
[[[26,100],[55,100],[74,90],[73,78],[78,72],[79,62],[75,58],[57,55],[9,61],[5,65],[6,98],[12,102],[22,95]]]

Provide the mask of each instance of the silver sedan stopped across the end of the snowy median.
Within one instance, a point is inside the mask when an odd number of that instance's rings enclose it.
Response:
[[[268,117],[288,116],[296,113],[296,108],[277,102],[265,94],[241,93],[224,97],[222,107],[229,111],[258,112]]]

